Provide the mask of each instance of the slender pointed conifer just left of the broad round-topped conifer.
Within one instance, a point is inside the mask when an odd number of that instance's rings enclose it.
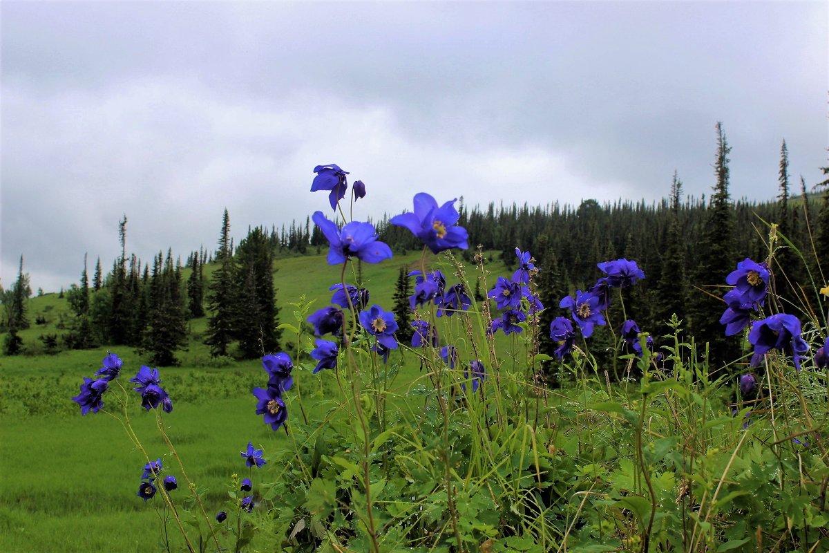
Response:
[[[227,348],[238,335],[237,322],[237,292],[236,263],[230,239],[230,216],[227,209],[222,218],[219,249],[216,250],[216,261],[219,268],[213,273],[213,279],[208,287],[207,306],[210,317],[207,320],[206,344],[211,347],[214,357],[227,355]]]

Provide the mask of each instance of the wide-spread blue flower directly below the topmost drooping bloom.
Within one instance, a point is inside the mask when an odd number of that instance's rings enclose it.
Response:
[[[316,211],[311,218],[331,245],[326,258],[328,264],[345,263],[352,257],[366,263],[380,263],[391,258],[389,245],[377,240],[377,233],[371,223],[351,221],[339,229],[333,221],[328,221],[322,215],[322,211]]]

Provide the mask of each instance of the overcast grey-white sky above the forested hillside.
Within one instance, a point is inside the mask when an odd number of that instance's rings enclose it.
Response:
[[[316,210],[777,193],[827,165],[827,2],[12,2],[2,20],[2,267],[32,289],[100,256],[215,249]]]

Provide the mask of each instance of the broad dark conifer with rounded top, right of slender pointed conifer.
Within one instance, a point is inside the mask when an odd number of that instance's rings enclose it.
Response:
[[[250,230],[245,240],[239,243],[236,263],[236,289],[244,314],[237,319],[235,337],[243,357],[261,357],[279,348],[274,262],[268,237],[261,227]]]

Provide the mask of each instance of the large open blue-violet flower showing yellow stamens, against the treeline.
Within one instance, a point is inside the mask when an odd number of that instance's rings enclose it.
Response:
[[[438,207],[434,197],[425,192],[414,195],[414,212],[391,218],[391,224],[409,229],[423,243],[437,254],[450,248],[466,250],[467,231],[455,226],[460,214],[454,207],[455,200]]]

